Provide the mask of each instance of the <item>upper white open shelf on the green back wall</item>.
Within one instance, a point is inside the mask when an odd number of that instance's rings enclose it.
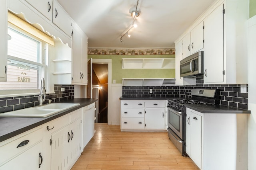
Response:
[[[175,69],[175,58],[122,58],[122,69]]]

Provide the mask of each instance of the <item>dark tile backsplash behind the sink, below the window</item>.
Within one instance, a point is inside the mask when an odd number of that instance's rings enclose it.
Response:
[[[64,92],[60,91],[62,87],[65,88]],[[46,94],[46,100],[43,104],[47,104],[49,100],[53,103],[74,99],[74,85],[55,84],[54,92],[54,94]],[[29,95],[0,98],[0,113],[37,106],[39,105],[38,96]]]

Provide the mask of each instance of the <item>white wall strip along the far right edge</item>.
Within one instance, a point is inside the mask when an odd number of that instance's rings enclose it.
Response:
[[[256,16],[248,20],[248,170],[256,169]]]

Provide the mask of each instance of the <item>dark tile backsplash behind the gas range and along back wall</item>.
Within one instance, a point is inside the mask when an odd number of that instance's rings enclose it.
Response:
[[[191,89],[219,89],[220,104],[248,109],[247,93],[240,92],[240,84],[204,84],[204,78],[196,78],[195,86],[123,86],[123,97],[180,97],[191,98]],[[153,93],[149,93],[153,89]]]

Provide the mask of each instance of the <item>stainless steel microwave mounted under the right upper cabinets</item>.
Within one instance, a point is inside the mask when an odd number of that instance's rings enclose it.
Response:
[[[198,51],[180,61],[180,77],[203,74],[203,51]]]

